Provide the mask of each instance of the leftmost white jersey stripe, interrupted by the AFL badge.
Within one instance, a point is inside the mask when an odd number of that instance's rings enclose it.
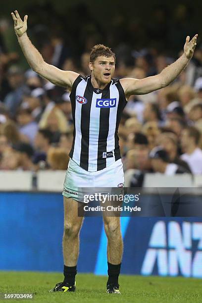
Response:
[[[82,79],[82,81],[77,85],[76,88],[76,96],[84,96],[86,86],[87,86],[88,80],[85,81]],[[81,156],[81,104],[79,104],[77,101],[75,106],[75,143],[74,143],[74,152],[72,156],[72,160],[74,160],[76,163],[80,164],[80,156]]]

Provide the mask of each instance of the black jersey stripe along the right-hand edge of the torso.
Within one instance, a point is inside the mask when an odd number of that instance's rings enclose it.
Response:
[[[123,90],[119,80],[117,81],[117,84],[115,84],[115,85],[119,92],[119,102],[118,102],[117,115],[116,115],[116,129],[115,129],[115,134],[114,134],[114,138],[115,138],[114,156],[115,156],[115,161],[117,161],[118,159],[121,158],[120,149],[119,149],[119,145],[118,145],[118,141],[119,141],[118,126],[119,126],[119,123],[121,120],[121,115],[122,115],[123,109],[127,104],[127,100],[126,100],[124,90]]]

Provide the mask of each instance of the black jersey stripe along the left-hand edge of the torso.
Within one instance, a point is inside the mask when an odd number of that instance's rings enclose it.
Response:
[[[74,131],[73,131],[73,141],[72,141],[72,148],[71,151],[69,152],[70,158],[73,157],[73,152],[74,152],[74,144],[75,144],[75,137],[76,137],[76,128],[75,128],[75,110],[76,110],[76,88],[78,84],[82,81],[82,76],[79,75],[76,80],[74,81],[72,85],[72,90],[69,95],[70,101],[71,101],[71,107],[72,107],[72,118],[74,121]]]

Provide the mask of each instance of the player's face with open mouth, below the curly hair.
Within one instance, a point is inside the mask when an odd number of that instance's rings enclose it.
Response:
[[[99,56],[93,63],[89,63],[89,67],[97,82],[104,84],[109,83],[115,69],[114,57]]]

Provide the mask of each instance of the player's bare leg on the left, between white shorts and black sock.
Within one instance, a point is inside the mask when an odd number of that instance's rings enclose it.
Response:
[[[78,217],[78,206],[82,203],[64,197],[64,233],[63,257],[64,265],[76,266],[79,255],[79,231],[83,217]]]

